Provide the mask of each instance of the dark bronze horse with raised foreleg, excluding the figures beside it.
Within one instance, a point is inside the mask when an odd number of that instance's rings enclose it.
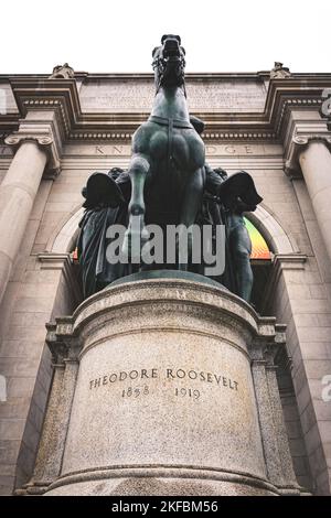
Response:
[[[124,251],[131,257],[140,255],[148,241],[147,223],[190,228],[201,207],[204,186],[204,143],[190,122],[185,51],[180,36],[163,35],[152,57],[154,102],[148,121],[132,137],[128,169],[132,190]],[[138,225],[134,225],[135,218]],[[141,246],[134,250],[137,237]]]

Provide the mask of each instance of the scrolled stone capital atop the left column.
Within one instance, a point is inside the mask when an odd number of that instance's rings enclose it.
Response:
[[[47,163],[43,177],[46,180],[55,180],[61,173],[61,155],[53,136],[50,134],[45,128],[41,128],[36,131],[29,131],[26,128],[23,128],[4,139],[4,143],[12,147],[14,151],[24,142],[35,142],[36,145],[46,153]]]

